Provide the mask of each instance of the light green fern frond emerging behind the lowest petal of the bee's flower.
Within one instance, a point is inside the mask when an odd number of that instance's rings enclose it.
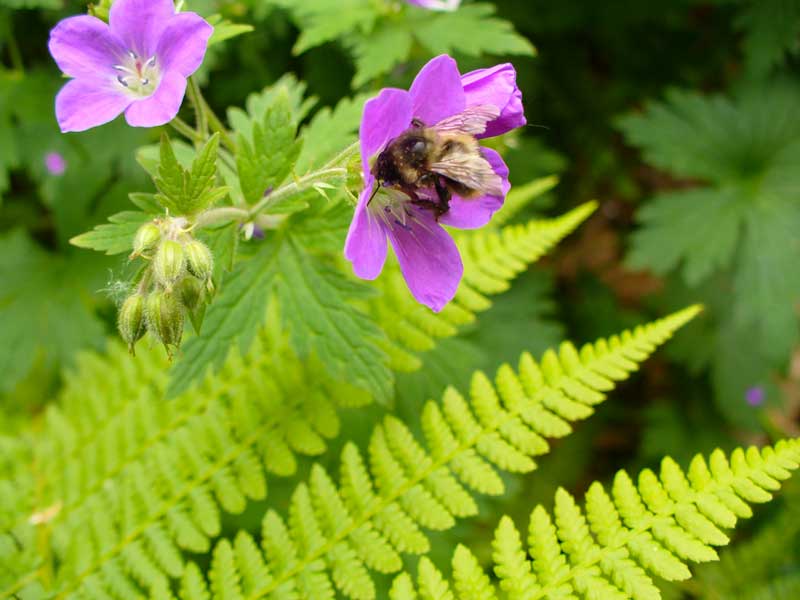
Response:
[[[555,219],[534,219],[456,236],[464,277],[455,299],[439,314],[411,297],[396,263],[388,266],[376,282],[383,294],[370,303],[369,310],[390,340],[383,349],[391,358],[391,367],[397,371],[420,368],[422,363],[415,353],[432,349],[437,338],[453,336],[461,325],[472,323],[476,313],[492,305],[487,296],[506,291],[517,275],[596,209],[596,202],[587,202]]]

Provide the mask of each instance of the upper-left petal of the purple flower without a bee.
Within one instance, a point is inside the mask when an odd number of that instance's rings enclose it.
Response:
[[[48,48],[58,68],[70,77],[111,75],[125,53],[122,41],[108,25],[88,15],[59,21],[50,32]]]

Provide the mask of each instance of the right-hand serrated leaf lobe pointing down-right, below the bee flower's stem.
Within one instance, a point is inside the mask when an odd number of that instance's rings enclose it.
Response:
[[[375,343],[383,334],[348,302],[369,295],[370,288],[324,265],[292,239],[280,253],[280,279],[281,313],[297,353],[313,352],[333,377],[388,403],[394,378]]]

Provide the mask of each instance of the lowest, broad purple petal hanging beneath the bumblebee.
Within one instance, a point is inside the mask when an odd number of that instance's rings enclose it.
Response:
[[[453,299],[464,265],[453,238],[430,211],[412,208],[416,220],[387,229],[408,289],[417,300],[439,312]]]

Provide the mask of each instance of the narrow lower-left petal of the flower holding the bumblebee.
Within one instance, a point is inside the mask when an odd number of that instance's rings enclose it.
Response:
[[[367,209],[374,183],[372,179],[370,185],[362,190],[344,243],[344,256],[353,263],[353,272],[362,279],[375,279],[386,262],[386,229]]]

